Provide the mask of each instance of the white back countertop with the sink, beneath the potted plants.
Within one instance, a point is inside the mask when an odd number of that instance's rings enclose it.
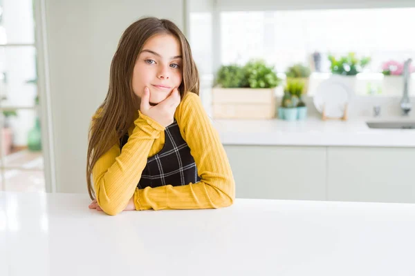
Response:
[[[392,118],[389,121],[404,121]],[[259,146],[382,146],[415,147],[415,130],[374,129],[359,118],[348,121],[225,120],[214,119],[223,145]]]

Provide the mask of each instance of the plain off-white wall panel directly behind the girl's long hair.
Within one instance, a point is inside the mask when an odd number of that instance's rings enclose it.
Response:
[[[87,131],[122,32],[145,15],[184,26],[184,0],[46,0],[56,191],[86,193]]]

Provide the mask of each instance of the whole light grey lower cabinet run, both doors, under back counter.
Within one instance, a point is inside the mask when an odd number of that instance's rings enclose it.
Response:
[[[225,145],[236,195],[415,203],[415,148]]]

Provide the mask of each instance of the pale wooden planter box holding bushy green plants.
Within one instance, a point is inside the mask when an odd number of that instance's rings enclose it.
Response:
[[[275,88],[213,88],[216,119],[275,118]]]

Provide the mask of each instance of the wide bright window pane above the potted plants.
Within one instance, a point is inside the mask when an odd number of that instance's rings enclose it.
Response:
[[[284,72],[310,63],[317,51],[329,72],[329,53],[356,52],[372,58],[367,71],[380,72],[389,59],[415,57],[414,14],[415,8],[221,12],[221,62],[264,58]]]

